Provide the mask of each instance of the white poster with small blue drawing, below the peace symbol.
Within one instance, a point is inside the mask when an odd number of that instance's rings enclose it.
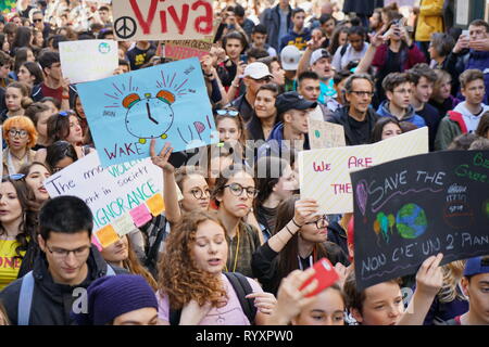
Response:
[[[63,77],[79,83],[110,77],[118,66],[117,42],[82,40],[60,42]]]

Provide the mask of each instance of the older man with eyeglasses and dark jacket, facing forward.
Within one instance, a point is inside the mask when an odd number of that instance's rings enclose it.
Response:
[[[347,145],[369,143],[379,115],[371,107],[374,81],[367,74],[355,74],[344,82],[347,104],[326,120],[343,126]]]

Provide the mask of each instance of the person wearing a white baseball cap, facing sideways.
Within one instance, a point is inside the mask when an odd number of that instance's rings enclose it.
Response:
[[[260,62],[251,63],[244,68],[242,80],[247,87],[247,92],[231,102],[231,106],[239,111],[244,123],[248,123],[253,116],[252,105],[254,105],[258,90],[263,85],[268,83],[273,77],[268,66]]]

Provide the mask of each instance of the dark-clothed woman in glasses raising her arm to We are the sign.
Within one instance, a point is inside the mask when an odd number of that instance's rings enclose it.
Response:
[[[327,241],[328,218],[318,215],[315,200],[293,195],[278,205],[275,235],[263,244],[252,260],[253,277],[263,290],[276,294],[281,279],[293,270],[305,270],[321,258],[331,264],[350,262],[341,248]]]

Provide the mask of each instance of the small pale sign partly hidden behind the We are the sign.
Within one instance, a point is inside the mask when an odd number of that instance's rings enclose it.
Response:
[[[309,118],[309,142],[311,150],[346,146],[343,126]]]

